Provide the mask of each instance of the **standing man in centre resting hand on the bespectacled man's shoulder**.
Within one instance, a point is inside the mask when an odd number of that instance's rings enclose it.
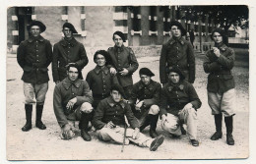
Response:
[[[124,89],[125,98],[129,99],[133,87],[133,73],[138,69],[139,64],[130,47],[125,47],[125,36],[121,31],[113,33],[114,47],[108,48],[112,59],[111,74],[116,74],[117,79]]]

